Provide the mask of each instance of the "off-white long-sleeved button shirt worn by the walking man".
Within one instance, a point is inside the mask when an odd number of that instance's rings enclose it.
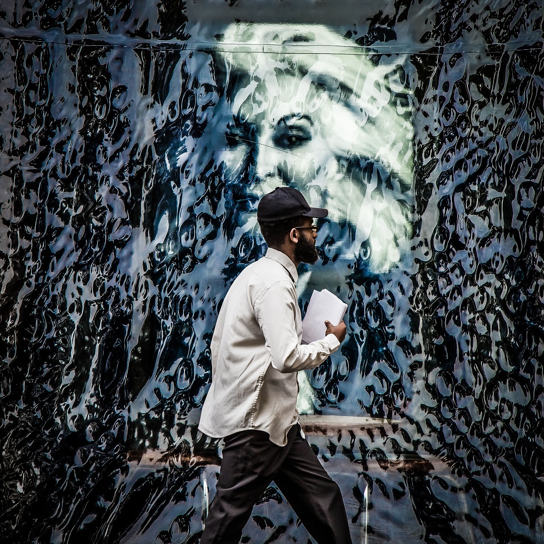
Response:
[[[225,437],[258,429],[278,446],[298,421],[298,370],[317,367],[340,345],[330,334],[301,345],[295,265],[281,251],[246,267],[223,301],[212,338],[212,385],[199,429]]]

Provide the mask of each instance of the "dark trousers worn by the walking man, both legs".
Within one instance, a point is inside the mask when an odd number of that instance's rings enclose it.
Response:
[[[263,431],[227,436],[223,460],[200,544],[238,544],[253,505],[271,481],[318,544],[351,544],[338,485],[293,425],[286,446]]]

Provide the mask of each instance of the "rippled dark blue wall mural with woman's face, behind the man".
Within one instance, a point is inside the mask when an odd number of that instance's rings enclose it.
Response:
[[[13,4],[0,541],[199,541],[209,342],[282,184],[330,210],[299,301],[348,339],[299,405],[354,542],[544,541],[542,2]],[[311,542],[273,486],[244,534]]]

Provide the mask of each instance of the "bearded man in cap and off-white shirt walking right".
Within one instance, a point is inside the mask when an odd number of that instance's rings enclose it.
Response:
[[[317,542],[351,542],[340,490],[302,436],[296,410],[296,373],[324,362],[346,333],[344,323],[326,322],[325,338],[300,343],[296,267],[317,261],[312,218],[327,213],[290,187],[259,201],[269,249],[233,282],[212,339],[212,386],[199,429],[224,437],[225,446],[201,544],[239,542],[273,480]]]

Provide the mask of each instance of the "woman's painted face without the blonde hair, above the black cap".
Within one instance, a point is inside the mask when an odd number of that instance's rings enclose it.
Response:
[[[249,166],[257,194],[293,185],[312,205],[326,203],[332,220],[341,219],[345,207],[331,198],[342,181],[340,150],[335,149],[338,123],[332,122],[326,93],[293,76],[271,73],[239,89],[232,106],[221,157],[226,176],[240,179]]]

